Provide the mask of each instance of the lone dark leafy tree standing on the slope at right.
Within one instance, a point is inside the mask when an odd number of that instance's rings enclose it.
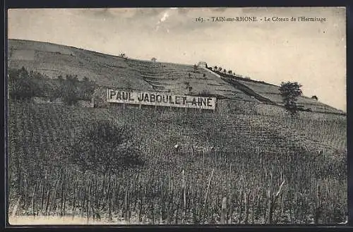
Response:
[[[301,96],[301,85],[297,82],[281,83],[279,88],[285,109],[293,116],[298,112],[297,97]]]

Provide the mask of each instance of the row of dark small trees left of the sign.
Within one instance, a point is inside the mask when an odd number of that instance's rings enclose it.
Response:
[[[41,73],[27,71],[24,67],[8,70],[8,94],[11,99],[25,100],[45,97],[50,101],[61,98],[68,105],[80,99],[89,100],[97,85],[88,78],[78,80],[77,75],[48,78]]]

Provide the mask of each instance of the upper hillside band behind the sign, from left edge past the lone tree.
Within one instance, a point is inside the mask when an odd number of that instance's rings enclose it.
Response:
[[[67,74],[78,75],[79,79],[88,77],[101,87],[186,94],[189,85],[193,94],[282,105],[278,86],[268,83],[213,73],[205,68],[194,70],[192,65],[124,59],[47,42],[8,39],[8,67],[22,66],[49,78]],[[299,97],[298,103],[311,111],[343,114],[309,97]]]

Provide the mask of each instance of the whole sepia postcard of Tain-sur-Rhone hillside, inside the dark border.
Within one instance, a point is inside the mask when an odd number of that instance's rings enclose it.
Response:
[[[347,224],[345,7],[8,10],[10,225]]]

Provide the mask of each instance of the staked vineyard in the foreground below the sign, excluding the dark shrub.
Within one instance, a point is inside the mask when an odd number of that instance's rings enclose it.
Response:
[[[217,113],[200,114],[10,102],[9,212],[133,224],[345,221],[345,116],[291,119],[261,107],[222,100]],[[72,138],[102,119],[131,127],[144,166],[78,169]]]

